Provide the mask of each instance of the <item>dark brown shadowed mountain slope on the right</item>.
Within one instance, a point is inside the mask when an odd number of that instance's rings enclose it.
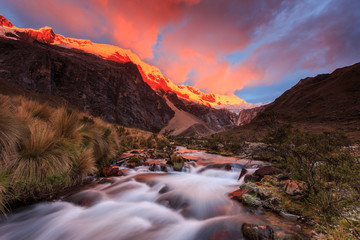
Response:
[[[261,139],[267,130],[291,124],[306,132],[338,131],[360,140],[360,63],[302,79],[260,111],[250,124],[220,135]]]

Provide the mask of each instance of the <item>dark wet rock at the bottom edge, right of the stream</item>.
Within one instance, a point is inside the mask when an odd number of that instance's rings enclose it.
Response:
[[[246,240],[274,240],[274,230],[269,226],[244,223],[241,231]]]

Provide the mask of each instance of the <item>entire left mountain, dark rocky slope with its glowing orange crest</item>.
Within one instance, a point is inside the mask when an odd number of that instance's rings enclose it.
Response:
[[[204,94],[190,86],[177,86],[130,50],[65,38],[49,27],[17,28],[2,16],[0,23],[1,78],[34,92],[61,97],[107,121],[177,135],[209,135],[237,122],[236,114],[210,107],[216,101],[217,106],[223,101],[246,107],[236,96]],[[175,112],[185,112],[193,121],[179,131],[170,120],[187,120]]]

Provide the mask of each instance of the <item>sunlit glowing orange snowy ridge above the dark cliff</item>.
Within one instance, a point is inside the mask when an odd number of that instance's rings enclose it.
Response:
[[[256,106],[254,104],[248,104],[245,100],[238,98],[234,94],[227,96],[215,93],[203,93],[199,89],[188,85],[176,85],[169,78],[165,77],[158,67],[142,61],[131,50],[122,49],[110,44],[94,43],[85,39],[64,37],[60,34],[55,34],[51,27],[43,27],[40,29],[18,28],[2,15],[0,15],[0,26],[8,28],[10,32],[16,31],[20,32],[20,34],[21,32],[25,32],[30,37],[43,43],[76,48],[115,62],[133,62],[137,65],[144,81],[155,91],[172,91],[181,98],[215,108],[236,106],[237,109],[246,109]],[[6,33],[2,35],[6,35]]]

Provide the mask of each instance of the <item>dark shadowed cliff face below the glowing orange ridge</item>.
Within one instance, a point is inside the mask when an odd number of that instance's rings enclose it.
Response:
[[[43,44],[36,38],[32,43],[0,38],[0,77],[126,126],[159,130],[174,115],[142,80],[135,64]]]

